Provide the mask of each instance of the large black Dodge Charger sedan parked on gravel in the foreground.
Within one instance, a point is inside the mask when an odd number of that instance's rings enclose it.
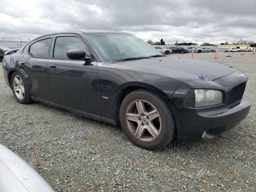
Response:
[[[248,78],[232,66],[168,57],[124,32],[40,36],[4,56],[4,78],[21,104],[32,101],[121,124],[149,149],[213,138],[250,110]]]

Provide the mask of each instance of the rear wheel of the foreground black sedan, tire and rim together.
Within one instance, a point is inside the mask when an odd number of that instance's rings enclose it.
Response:
[[[32,102],[30,91],[26,86],[25,78],[22,74],[18,72],[12,74],[11,87],[14,97],[19,103],[28,104]]]

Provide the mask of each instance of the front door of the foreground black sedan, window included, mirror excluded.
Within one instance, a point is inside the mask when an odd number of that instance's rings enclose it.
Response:
[[[60,34],[54,37],[52,59],[48,61],[48,81],[54,103],[100,116],[97,62],[70,60],[66,53],[72,49],[90,53],[78,34]]]

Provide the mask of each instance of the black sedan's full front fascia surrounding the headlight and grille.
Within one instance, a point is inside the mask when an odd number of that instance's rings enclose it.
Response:
[[[251,100],[244,92],[242,99],[228,106],[230,90],[246,82],[246,76],[233,72],[216,80],[191,80],[180,84],[172,95],[165,98],[174,114],[177,137],[180,142],[196,142],[216,137],[236,126],[249,113]],[[201,108],[188,108],[183,105],[188,90],[216,89],[224,96],[222,104]],[[204,133],[205,132],[205,133]]]

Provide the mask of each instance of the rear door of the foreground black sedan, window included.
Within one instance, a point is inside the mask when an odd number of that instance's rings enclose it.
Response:
[[[47,76],[51,44],[52,36],[38,38],[24,48],[18,60],[20,70],[24,70],[28,75],[25,78],[31,96],[47,101],[52,101]]]

